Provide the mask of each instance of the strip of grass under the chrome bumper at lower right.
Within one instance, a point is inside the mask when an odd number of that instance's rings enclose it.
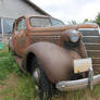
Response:
[[[93,91],[86,88],[84,90],[65,92],[54,100],[100,100],[100,85],[95,86]]]

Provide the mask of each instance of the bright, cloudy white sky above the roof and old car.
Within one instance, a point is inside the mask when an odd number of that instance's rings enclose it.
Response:
[[[100,12],[100,0],[30,0],[47,13],[64,23],[85,18],[95,20]]]

